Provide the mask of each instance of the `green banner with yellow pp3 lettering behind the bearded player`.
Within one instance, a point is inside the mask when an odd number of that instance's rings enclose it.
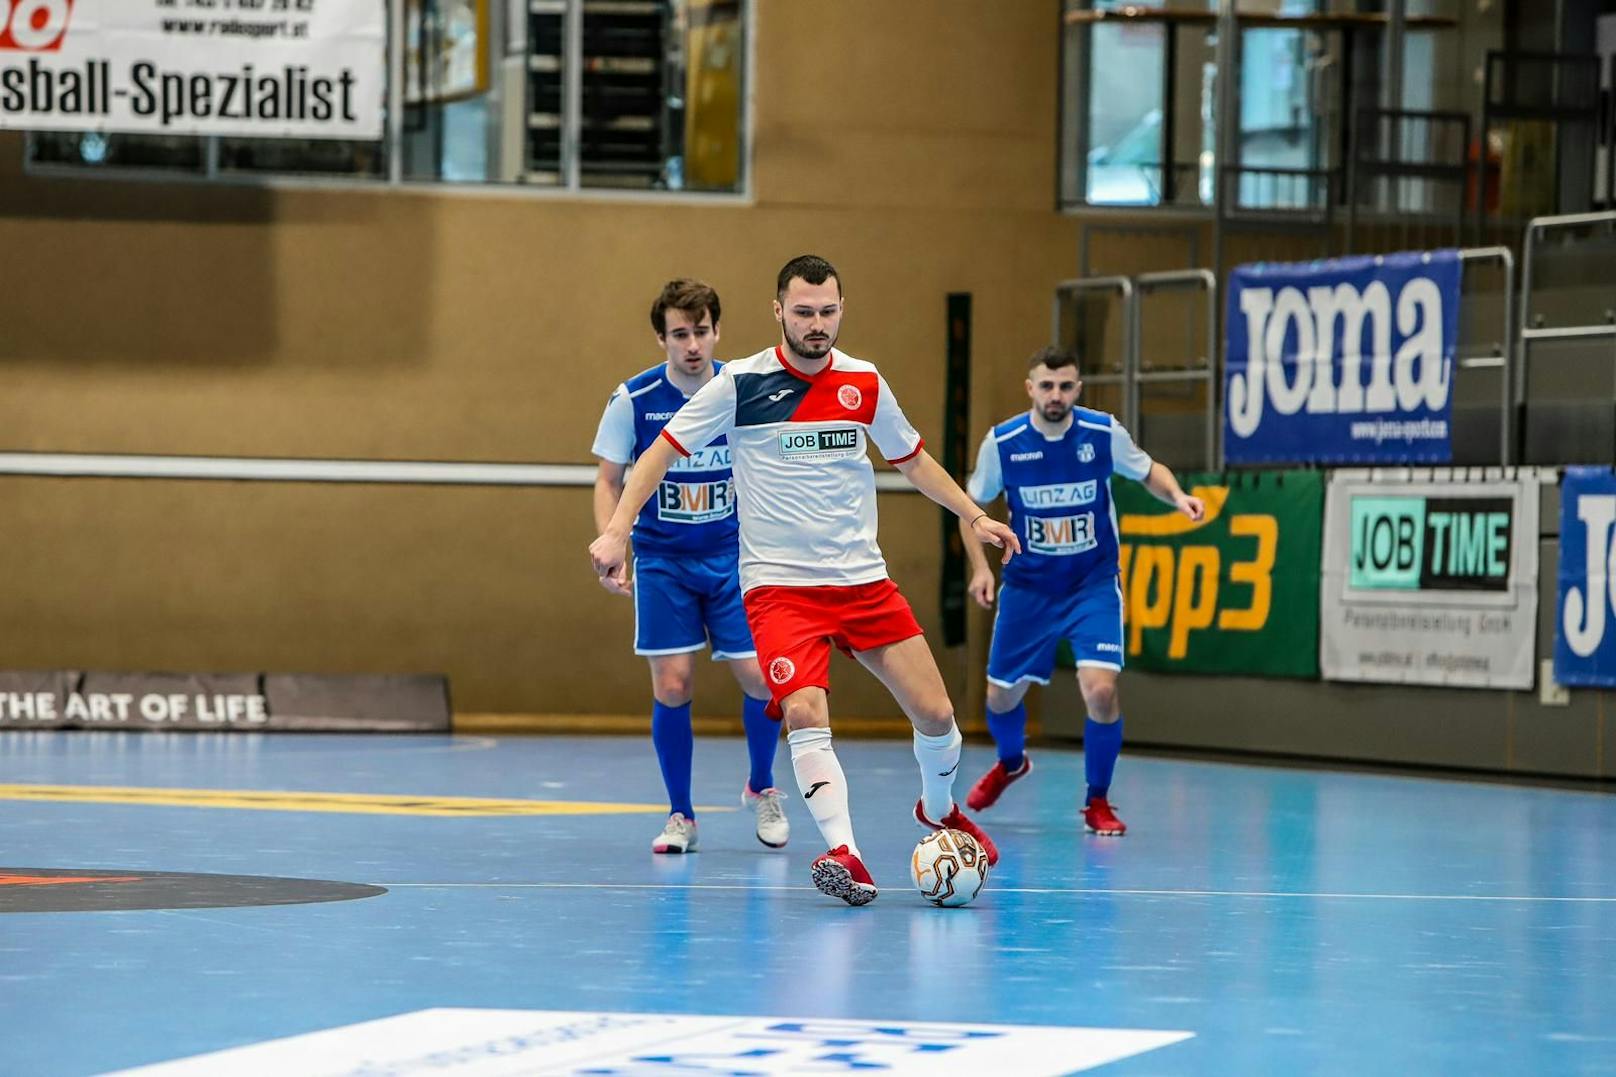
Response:
[[[1319,676],[1319,472],[1189,474],[1201,522],[1117,480],[1128,663]]]

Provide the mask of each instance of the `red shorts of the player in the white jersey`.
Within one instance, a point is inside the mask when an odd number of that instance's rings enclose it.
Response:
[[[890,579],[853,587],[753,587],[747,624],[769,686],[768,713],[805,687],[831,689],[831,645],[874,650],[921,634],[915,611]]]

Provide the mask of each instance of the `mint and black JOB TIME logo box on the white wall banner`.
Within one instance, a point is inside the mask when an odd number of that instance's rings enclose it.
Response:
[[[1354,496],[1354,590],[1508,590],[1511,498]]]

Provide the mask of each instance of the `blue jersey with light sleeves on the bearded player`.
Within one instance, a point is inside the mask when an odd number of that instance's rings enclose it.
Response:
[[[1117,579],[1113,472],[1144,479],[1151,458],[1102,411],[1073,408],[1054,438],[1028,414],[987,432],[968,490],[983,503],[1004,493],[1010,505],[1021,553],[1004,569],[1007,584],[1070,590]]]

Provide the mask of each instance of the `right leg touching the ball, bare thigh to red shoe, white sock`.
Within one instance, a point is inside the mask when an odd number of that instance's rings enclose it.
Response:
[[[910,636],[895,644],[856,650],[853,657],[892,692],[892,699],[915,726],[915,762],[920,765],[921,783],[920,800],[915,804],[916,821],[932,830],[963,830],[983,846],[987,862],[997,864],[997,846],[953,802],[953,778],[960,770],[960,728],[953,721],[953,703],[926,639]]]

